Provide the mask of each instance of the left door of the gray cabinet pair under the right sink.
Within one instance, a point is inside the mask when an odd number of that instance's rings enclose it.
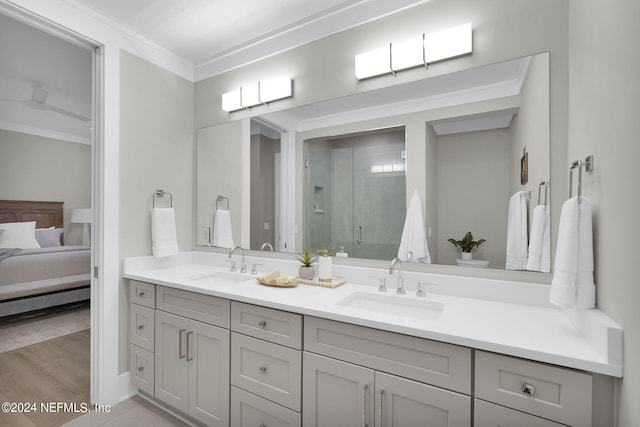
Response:
[[[302,366],[305,427],[373,426],[373,370],[307,352]]]

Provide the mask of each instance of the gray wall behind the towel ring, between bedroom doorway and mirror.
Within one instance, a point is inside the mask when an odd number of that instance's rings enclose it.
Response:
[[[181,251],[194,244],[193,84],[120,55],[120,256],[151,255],[152,194],[173,194]],[[119,372],[129,370],[128,286],[120,281]]]

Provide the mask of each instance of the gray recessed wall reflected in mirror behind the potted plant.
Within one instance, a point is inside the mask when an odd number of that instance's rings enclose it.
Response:
[[[488,260],[491,268],[504,268],[511,196],[509,131],[443,135],[437,141],[437,263],[456,265],[460,250],[447,239],[460,240],[471,231],[474,240],[487,240],[473,251],[473,258]]]

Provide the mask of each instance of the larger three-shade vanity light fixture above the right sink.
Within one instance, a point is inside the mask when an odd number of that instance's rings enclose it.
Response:
[[[471,23],[422,34],[355,57],[358,80],[406,70],[472,52]]]

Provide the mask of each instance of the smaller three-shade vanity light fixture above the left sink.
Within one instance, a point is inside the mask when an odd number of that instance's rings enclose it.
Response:
[[[222,109],[236,111],[289,98],[293,95],[293,80],[287,76],[256,82],[222,94]]]

